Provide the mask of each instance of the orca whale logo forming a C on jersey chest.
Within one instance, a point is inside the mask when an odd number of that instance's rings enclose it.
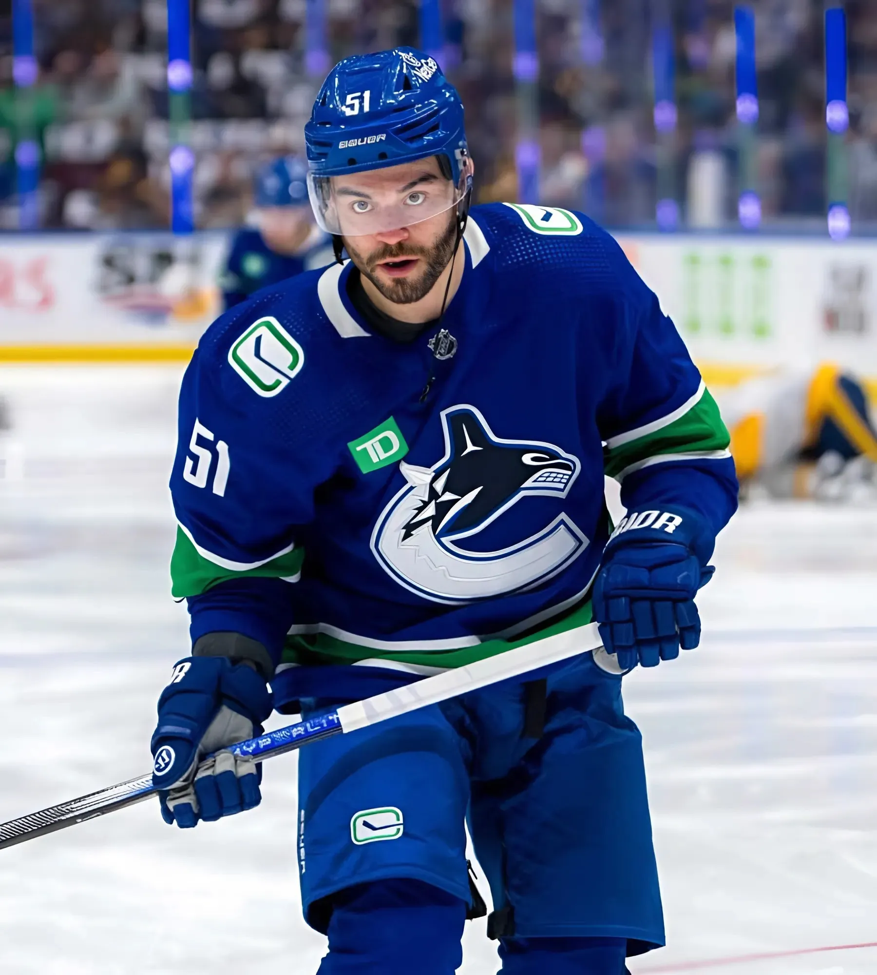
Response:
[[[444,456],[433,467],[400,462],[407,485],[381,513],[371,551],[406,589],[465,604],[530,589],[577,559],[589,539],[565,514],[495,552],[457,544],[531,495],[566,497],[579,459],[552,444],[501,440],[481,413],[441,413]]]

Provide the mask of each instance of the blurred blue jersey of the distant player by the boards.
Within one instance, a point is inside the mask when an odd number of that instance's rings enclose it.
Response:
[[[277,285],[302,271],[324,267],[334,259],[326,235],[303,254],[277,254],[255,227],[243,227],[232,239],[219,280],[223,308],[228,311],[261,288]]]

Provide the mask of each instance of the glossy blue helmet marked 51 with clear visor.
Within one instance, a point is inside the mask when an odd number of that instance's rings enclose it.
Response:
[[[336,64],[305,126],[305,144],[311,206],[327,233],[357,236],[409,226],[463,203],[472,188],[460,96],[436,60],[413,48]],[[333,178],[432,156],[444,185],[418,190],[416,200],[363,201],[333,192]]]

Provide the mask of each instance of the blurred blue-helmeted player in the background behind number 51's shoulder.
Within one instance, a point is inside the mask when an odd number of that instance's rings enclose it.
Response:
[[[256,174],[251,225],[235,234],[220,279],[226,311],[260,288],[331,263],[328,238],[308,204],[307,175],[295,156],[275,159]]]

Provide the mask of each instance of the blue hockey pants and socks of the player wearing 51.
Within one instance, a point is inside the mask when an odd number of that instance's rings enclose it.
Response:
[[[621,975],[664,943],[639,732],[590,653],[303,749],[299,803],[320,975],[459,967],[467,822],[504,975]]]

